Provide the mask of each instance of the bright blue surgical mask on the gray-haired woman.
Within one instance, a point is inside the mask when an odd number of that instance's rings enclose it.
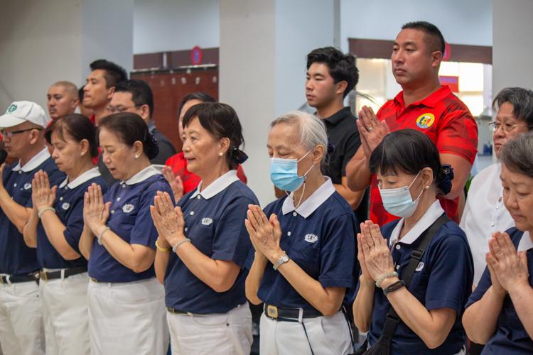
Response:
[[[311,150],[312,151],[312,150]],[[311,153],[308,151],[307,154]],[[305,158],[303,155],[300,160]],[[298,176],[298,159],[270,158],[270,180],[279,190],[296,191],[306,180],[306,175],[313,169],[312,165],[307,173]]]

